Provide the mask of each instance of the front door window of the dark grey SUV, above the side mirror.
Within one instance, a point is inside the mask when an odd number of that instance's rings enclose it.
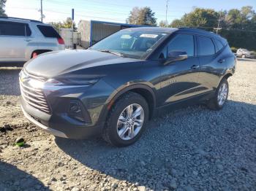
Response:
[[[167,51],[182,50],[186,51],[188,56],[194,56],[194,37],[190,34],[178,34],[168,44]]]

